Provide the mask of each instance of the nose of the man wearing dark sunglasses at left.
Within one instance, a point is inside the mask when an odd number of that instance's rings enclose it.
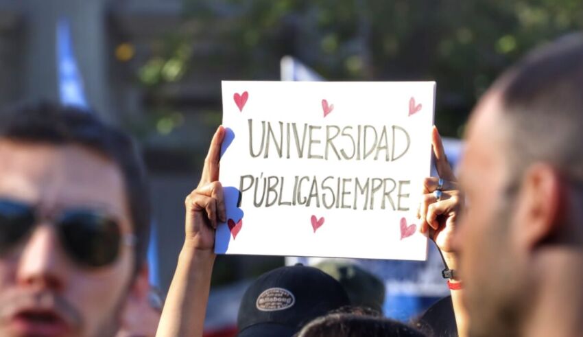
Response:
[[[16,279],[21,286],[61,290],[67,279],[67,261],[51,226],[40,224],[25,244]]]

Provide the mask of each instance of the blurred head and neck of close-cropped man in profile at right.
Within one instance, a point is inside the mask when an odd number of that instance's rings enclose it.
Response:
[[[453,241],[469,335],[580,335],[583,35],[505,72],[476,107],[466,145],[460,185],[471,207]]]

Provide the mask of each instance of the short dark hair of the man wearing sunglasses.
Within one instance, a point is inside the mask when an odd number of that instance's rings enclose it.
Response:
[[[119,165],[137,238],[137,271],[145,260],[150,236],[150,194],[145,166],[132,138],[104,124],[91,111],[48,102],[10,108],[0,116],[0,139],[56,146],[76,144],[104,154]]]

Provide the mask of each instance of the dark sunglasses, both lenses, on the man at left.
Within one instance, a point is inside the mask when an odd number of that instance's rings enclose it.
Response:
[[[32,233],[39,220],[33,205],[0,198],[0,254]],[[65,209],[51,220],[64,250],[81,266],[96,268],[112,264],[122,244],[135,244],[134,235],[122,235],[119,224],[99,211]]]

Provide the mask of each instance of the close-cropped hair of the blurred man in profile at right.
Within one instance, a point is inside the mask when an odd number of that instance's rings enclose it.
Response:
[[[511,169],[545,161],[583,180],[583,33],[535,49],[495,87],[510,121]]]

